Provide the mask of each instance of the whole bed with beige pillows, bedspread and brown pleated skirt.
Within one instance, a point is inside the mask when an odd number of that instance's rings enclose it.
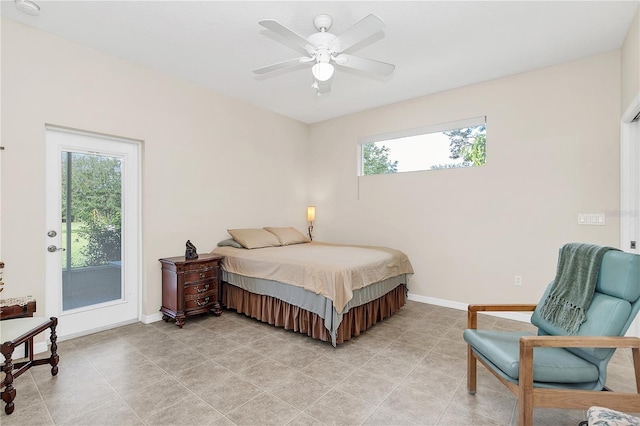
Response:
[[[294,228],[229,233],[213,250],[227,309],[336,346],[405,304],[413,268],[399,250],[312,242]]]

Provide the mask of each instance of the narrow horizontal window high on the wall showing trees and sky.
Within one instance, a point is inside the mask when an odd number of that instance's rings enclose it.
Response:
[[[358,141],[359,176],[482,166],[485,117],[367,136]]]

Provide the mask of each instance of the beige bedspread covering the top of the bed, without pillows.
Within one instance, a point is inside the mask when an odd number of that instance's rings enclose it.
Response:
[[[338,312],[353,290],[413,273],[407,255],[387,247],[311,242],[253,250],[217,247],[213,253],[225,256],[227,272],[303,287],[332,300]]]

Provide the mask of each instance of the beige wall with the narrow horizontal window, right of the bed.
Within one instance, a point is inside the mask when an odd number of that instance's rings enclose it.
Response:
[[[483,167],[356,177],[359,137],[482,115]],[[405,251],[419,298],[536,302],[562,244],[618,245],[577,215],[619,206],[619,120],[614,52],[314,124],[316,234]]]

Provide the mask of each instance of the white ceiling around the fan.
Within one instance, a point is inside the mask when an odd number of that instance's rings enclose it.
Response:
[[[40,16],[3,0],[2,16],[195,82],[305,123],[619,49],[630,1],[50,1]],[[310,65],[258,76],[299,57],[258,25],[308,37],[318,14],[339,35],[373,13],[385,29],[348,53],[396,65],[389,77],[340,68],[316,96]],[[11,42],[3,40],[3,43]]]

